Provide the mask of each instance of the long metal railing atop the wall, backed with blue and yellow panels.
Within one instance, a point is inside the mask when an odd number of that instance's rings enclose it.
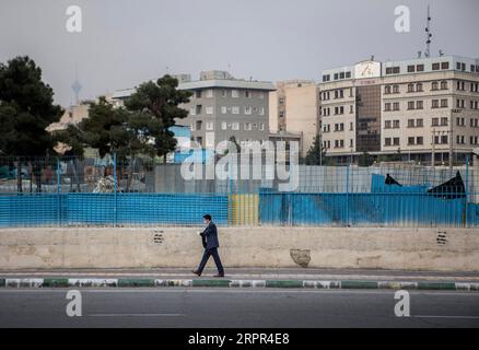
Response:
[[[152,160],[0,158],[0,226],[479,226],[479,173],[396,163],[297,166],[297,187],[184,179]],[[238,172],[240,173],[240,172]]]

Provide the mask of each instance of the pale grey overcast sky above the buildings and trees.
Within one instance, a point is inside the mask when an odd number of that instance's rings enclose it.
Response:
[[[63,106],[74,101],[75,66],[83,98],[167,71],[318,81],[323,69],[371,55],[414,58],[428,2],[432,54],[478,58],[478,0],[0,0],[0,61],[32,57]],[[73,4],[82,33],[66,28]],[[410,33],[395,32],[397,5],[410,9]]]

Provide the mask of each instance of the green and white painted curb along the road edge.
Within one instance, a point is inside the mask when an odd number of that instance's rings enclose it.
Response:
[[[0,278],[1,289],[15,288],[276,288],[276,289],[390,289],[479,291],[479,282],[410,282],[366,280],[227,280],[124,278]]]

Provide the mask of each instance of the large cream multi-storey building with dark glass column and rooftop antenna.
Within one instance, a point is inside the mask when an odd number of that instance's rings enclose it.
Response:
[[[363,152],[423,164],[471,159],[479,138],[479,59],[458,56],[367,60],[322,75],[327,156]]]

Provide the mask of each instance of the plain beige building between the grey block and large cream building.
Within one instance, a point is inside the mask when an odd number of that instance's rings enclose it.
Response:
[[[300,155],[305,156],[318,135],[319,90],[314,81],[278,82],[269,93],[270,132],[301,137]]]

